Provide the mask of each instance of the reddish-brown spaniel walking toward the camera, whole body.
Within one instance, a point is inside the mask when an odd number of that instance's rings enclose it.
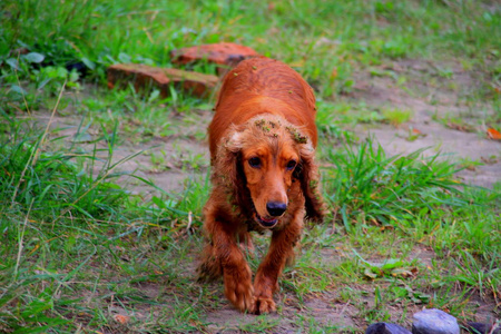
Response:
[[[245,60],[226,75],[208,132],[213,191],[204,228],[210,242],[200,278],[223,276],[226,297],[243,312],[274,312],[273,293],[305,214],[323,216],[312,88],[283,62]],[[252,248],[248,232],[266,229],[272,243],[253,285],[239,244]]]

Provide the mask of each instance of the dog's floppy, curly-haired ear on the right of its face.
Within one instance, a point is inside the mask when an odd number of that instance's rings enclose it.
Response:
[[[294,174],[301,181],[301,188],[305,197],[306,218],[322,222],[325,215],[325,207],[322,198],[318,167],[315,164],[315,150],[310,141],[301,145],[299,155],[301,163]]]

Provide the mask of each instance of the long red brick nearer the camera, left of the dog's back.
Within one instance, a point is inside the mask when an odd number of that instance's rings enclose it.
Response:
[[[197,97],[205,97],[214,90],[218,80],[216,76],[140,63],[119,63],[108,68],[109,88],[132,82],[136,90],[141,90],[153,85],[160,90],[161,97],[170,95],[170,85]]]

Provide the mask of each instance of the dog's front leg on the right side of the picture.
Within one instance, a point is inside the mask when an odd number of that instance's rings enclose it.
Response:
[[[274,230],[268,254],[257,269],[254,279],[254,312],[256,314],[276,311],[273,293],[278,288],[278,276],[288,258],[294,256],[294,246],[302,229],[302,222],[293,220],[287,227]]]

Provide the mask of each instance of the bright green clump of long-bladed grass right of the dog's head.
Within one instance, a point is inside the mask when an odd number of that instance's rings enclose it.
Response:
[[[399,224],[407,215],[428,213],[436,207],[464,206],[459,194],[459,171],[440,155],[423,158],[425,149],[407,156],[386,157],[372,139],[356,149],[345,146],[342,154],[331,150],[326,160],[326,193],[336,214],[350,230],[351,222]]]

